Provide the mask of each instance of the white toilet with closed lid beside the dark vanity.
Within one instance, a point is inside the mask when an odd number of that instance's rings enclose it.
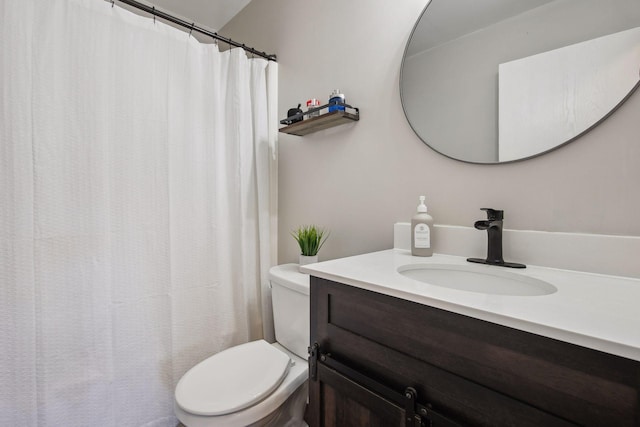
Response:
[[[276,343],[252,341],[198,363],[180,379],[175,414],[187,427],[306,425],[309,276],[269,271]]]

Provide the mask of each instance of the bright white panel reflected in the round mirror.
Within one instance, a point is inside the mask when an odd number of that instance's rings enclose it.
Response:
[[[614,110],[640,78],[640,27],[499,65],[498,160],[553,149]]]

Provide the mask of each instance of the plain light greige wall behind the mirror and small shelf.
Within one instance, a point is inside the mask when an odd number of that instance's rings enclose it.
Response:
[[[253,0],[220,31],[278,55],[280,117],[335,88],[361,111],[354,124],[280,134],[279,262],[297,260],[289,231],[307,223],[331,229],[321,260],[389,248],[392,224],[411,217],[420,194],[438,224],[469,226],[479,208],[493,207],[511,229],[640,236],[640,93],[544,156],[506,165],[448,159],[415,136],[400,104],[400,62],[425,4]]]

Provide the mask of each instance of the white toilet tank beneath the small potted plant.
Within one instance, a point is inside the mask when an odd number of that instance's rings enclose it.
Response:
[[[307,359],[309,347],[309,275],[298,264],[283,264],[269,270],[276,341]]]

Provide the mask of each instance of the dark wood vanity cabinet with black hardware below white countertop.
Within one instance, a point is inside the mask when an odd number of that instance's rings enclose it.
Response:
[[[311,427],[640,426],[640,362],[317,277],[311,343]]]

